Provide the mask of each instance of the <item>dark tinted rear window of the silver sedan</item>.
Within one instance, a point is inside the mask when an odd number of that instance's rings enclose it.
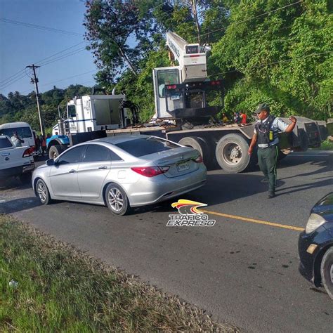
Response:
[[[179,145],[176,145],[175,143],[170,143],[169,141],[155,137],[138,138],[135,140],[117,143],[116,145],[135,157],[155,154],[155,152],[162,152],[163,150],[179,148]]]

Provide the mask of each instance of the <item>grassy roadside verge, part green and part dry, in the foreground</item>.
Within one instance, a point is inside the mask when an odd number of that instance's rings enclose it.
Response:
[[[6,215],[0,253],[0,332],[237,332]]]

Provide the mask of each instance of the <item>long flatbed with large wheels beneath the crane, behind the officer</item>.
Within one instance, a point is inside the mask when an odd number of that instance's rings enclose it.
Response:
[[[307,150],[318,147],[327,133],[311,119],[299,117],[292,133],[279,133],[280,158],[292,150]],[[289,119],[285,119],[289,122]],[[231,124],[224,126],[194,126],[182,129],[177,126],[132,126],[126,129],[107,130],[107,136],[122,134],[148,134],[166,138],[200,152],[207,166],[218,166],[230,174],[238,174],[256,164],[256,154],[247,154],[254,133],[254,124]],[[322,138],[325,136],[325,138]]]

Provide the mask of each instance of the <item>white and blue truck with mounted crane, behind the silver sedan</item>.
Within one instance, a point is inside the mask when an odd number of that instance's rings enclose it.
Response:
[[[126,96],[90,95],[74,98],[67,104],[65,119],[59,119],[48,139],[48,154],[55,158],[70,145],[124,133],[150,134],[195,148],[204,163],[217,164],[237,174],[256,164],[256,154],[247,150],[254,124],[223,124],[223,81],[207,78],[207,57],[199,44],[188,44],[178,34],[167,32],[166,45],[177,66],[152,71],[155,115],[148,124],[138,124],[138,108]],[[212,96],[221,105],[211,105]],[[292,133],[280,133],[280,158],[291,150],[318,147],[327,138],[325,122],[296,117]],[[289,122],[289,119],[285,119]]]

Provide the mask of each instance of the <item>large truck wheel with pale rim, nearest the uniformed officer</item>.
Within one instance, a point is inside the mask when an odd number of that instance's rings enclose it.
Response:
[[[229,174],[238,174],[255,162],[255,156],[248,155],[247,150],[249,143],[242,136],[227,134],[216,145],[216,161],[221,169]]]

